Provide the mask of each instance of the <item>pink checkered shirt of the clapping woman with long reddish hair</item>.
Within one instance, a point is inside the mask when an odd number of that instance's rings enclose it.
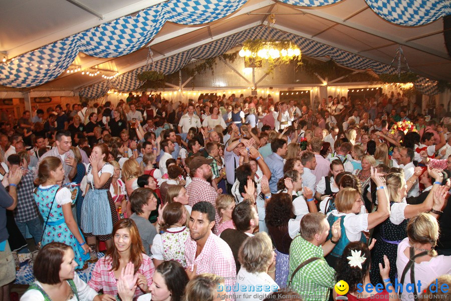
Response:
[[[114,272],[111,270],[112,262],[108,260],[110,257],[105,256],[97,261],[91,275],[91,279],[88,285],[91,286],[95,291],[103,289],[104,294],[110,294],[113,297],[117,295],[116,277]],[[110,271],[111,270],[111,271]],[[146,254],[142,254],[141,266],[138,269],[138,273],[143,274],[147,279],[147,286],[150,288],[152,284],[153,273],[155,272],[155,266],[153,265],[152,259]],[[133,300],[135,300],[144,292],[138,287],[136,287],[135,294],[133,295]]]

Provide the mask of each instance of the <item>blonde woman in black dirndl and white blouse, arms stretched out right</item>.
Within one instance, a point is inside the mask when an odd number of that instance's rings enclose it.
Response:
[[[433,208],[441,210],[443,203],[440,199],[434,198],[435,191],[443,181],[443,175],[439,170],[429,171],[431,177],[435,179],[431,191],[423,203],[408,205],[404,198],[407,195],[405,179],[401,174],[388,174],[385,178],[388,196],[390,199],[390,216],[380,225],[380,232],[376,235],[376,244],[372,249],[372,268],[370,272],[371,281],[380,283],[383,279],[379,277],[379,268],[376,263],[383,260],[386,255],[390,262],[396,262],[398,244],[407,236],[406,227],[410,218],[421,212],[428,212]],[[396,272],[390,272],[390,280],[394,283]],[[399,274],[398,274],[399,280]]]

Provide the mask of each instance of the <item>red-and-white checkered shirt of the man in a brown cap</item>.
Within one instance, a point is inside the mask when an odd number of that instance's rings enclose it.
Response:
[[[206,201],[209,202],[213,207],[214,210],[214,227],[212,229],[213,233],[217,233],[217,227],[216,225],[219,225],[220,217],[217,214],[216,211],[216,199],[217,199],[217,192],[214,190],[214,188],[208,183],[207,181],[200,179],[200,178],[192,178],[191,183],[188,184],[186,187],[186,191],[188,192],[189,200],[188,205],[194,206],[194,204]]]

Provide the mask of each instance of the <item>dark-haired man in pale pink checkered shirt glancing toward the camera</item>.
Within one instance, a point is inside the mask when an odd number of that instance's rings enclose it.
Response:
[[[237,277],[235,259],[229,245],[211,232],[215,211],[209,202],[192,206],[190,237],[185,242],[186,273],[189,279],[201,273],[215,274],[232,287]]]

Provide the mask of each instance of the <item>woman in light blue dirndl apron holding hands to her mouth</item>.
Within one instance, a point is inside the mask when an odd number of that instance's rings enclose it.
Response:
[[[105,162],[108,146],[99,143],[89,157],[86,195],[83,200],[81,228],[89,244],[96,243],[96,237],[112,245],[113,225],[118,221],[116,206],[110,193],[114,167]]]

